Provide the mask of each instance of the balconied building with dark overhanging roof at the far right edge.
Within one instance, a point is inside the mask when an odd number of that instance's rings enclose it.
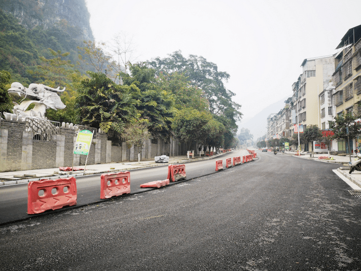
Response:
[[[354,112],[359,114],[361,113],[361,25],[350,28],[336,49],[340,49],[335,56],[333,74],[333,83],[336,88],[333,103],[336,114]],[[350,143],[351,151],[358,142],[359,139],[356,139],[356,142]],[[337,141],[335,149],[348,152],[349,148],[345,141],[340,140]]]

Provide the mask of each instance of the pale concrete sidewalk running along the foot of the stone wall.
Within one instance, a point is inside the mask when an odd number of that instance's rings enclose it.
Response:
[[[59,178],[68,178],[71,176],[78,177],[78,176],[92,175],[92,174],[129,171],[129,170],[135,170],[137,168],[146,168],[152,166],[168,166],[168,164],[187,163],[187,162],[193,162],[199,160],[214,159],[221,155],[224,154],[213,155],[211,157],[204,157],[204,156],[194,157],[193,159],[188,159],[186,155],[174,156],[174,157],[169,157],[169,163],[156,163],[153,159],[153,160],[140,161],[139,163],[138,161],[133,161],[133,162],[122,162],[122,163],[90,164],[86,166],[85,172],[84,170],[74,171],[74,172],[64,172],[64,171],[59,171],[58,167],[44,168],[41,170],[0,172],[0,186],[28,183],[31,181],[39,181],[42,179],[55,180]],[[84,169],[84,165],[74,166],[74,168]]]

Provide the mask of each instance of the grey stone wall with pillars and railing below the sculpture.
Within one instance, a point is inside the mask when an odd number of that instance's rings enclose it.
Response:
[[[33,170],[40,168],[56,168],[59,166],[84,165],[86,156],[74,154],[77,138],[77,125],[62,123],[57,134],[51,140],[43,140],[37,133],[30,130],[25,119],[0,121],[0,172]],[[170,143],[158,139],[157,144],[150,139],[140,152],[141,160],[154,159],[154,156],[185,155],[184,144],[171,140]],[[110,162],[137,161],[138,150],[134,146],[128,148],[112,146],[107,140],[107,134],[100,129],[92,141],[87,164]]]

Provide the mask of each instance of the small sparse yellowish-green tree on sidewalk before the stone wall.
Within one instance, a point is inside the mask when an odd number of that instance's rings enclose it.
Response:
[[[137,148],[138,162],[140,162],[140,153],[143,149],[143,145],[151,136],[148,132],[148,126],[149,121],[147,119],[136,119],[125,128],[124,133],[122,134],[122,138],[125,140],[128,147],[134,145],[134,147]]]

